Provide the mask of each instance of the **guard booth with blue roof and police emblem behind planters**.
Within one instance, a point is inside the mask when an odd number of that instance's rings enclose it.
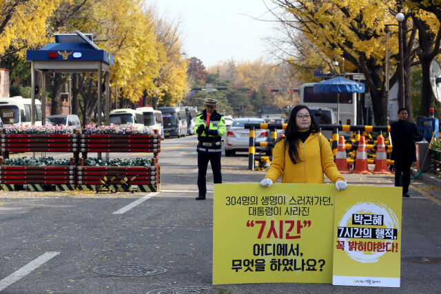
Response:
[[[55,34],[55,42],[45,45],[40,50],[28,50],[27,60],[31,62],[31,123],[35,123],[35,71],[40,72],[97,72],[98,97],[103,94],[102,79],[105,75],[105,125],[109,125],[110,112],[110,65],[114,57],[105,50],[100,50],[92,39],[92,34]],[[42,74],[41,106],[46,104],[46,75]],[[98,125],[101,125],[101,103],[98,103]],[[43,112],[42,123],[45,122]]]

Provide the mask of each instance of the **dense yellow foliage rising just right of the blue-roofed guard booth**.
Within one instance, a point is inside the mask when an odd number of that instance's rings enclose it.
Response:
[[[141,0],[103,0],[96,4],[101,19],[97,38],[107,40],[101,46],[114,55],[110,79],[130,101],[138,101],[143,90],[153,87],[163,61],[158,58],[152,14]]]

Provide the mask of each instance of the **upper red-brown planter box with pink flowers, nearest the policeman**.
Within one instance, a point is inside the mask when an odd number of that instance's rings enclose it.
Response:
[[[88,152],[146,152],[156,157],[161,151],[161,136],[81,134],[80,151],[83,158]]]

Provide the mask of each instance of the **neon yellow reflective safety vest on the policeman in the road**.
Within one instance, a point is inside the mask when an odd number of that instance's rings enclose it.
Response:
[[[205,125],[207,128],[207,111],[204,110],[202,114],[196,117],[196,123],[194,125],[194,134],[198,134],[196,130],[200,125]],[[227,132],[227,126],[225,125],[225,118],[223,115],[218,114],[216,110],[210,115],[209,118],[209,129],[214,129],[217,131],[216,135],[207,135],[205,131],[202,134],[198,134],[198,152],[209,153],[209,152],[221,152],[222,151],[222,136]]]

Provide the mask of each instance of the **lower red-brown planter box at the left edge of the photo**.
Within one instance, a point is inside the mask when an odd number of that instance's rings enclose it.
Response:
[[[30,191],[44,191],[54,186],[57,191],[75,188],[76,169],[74,165],[54,166],[0,166],[0,186],[3,190],[14,191],[26,185]],[[45,187],[43,187],[45,186]]]

